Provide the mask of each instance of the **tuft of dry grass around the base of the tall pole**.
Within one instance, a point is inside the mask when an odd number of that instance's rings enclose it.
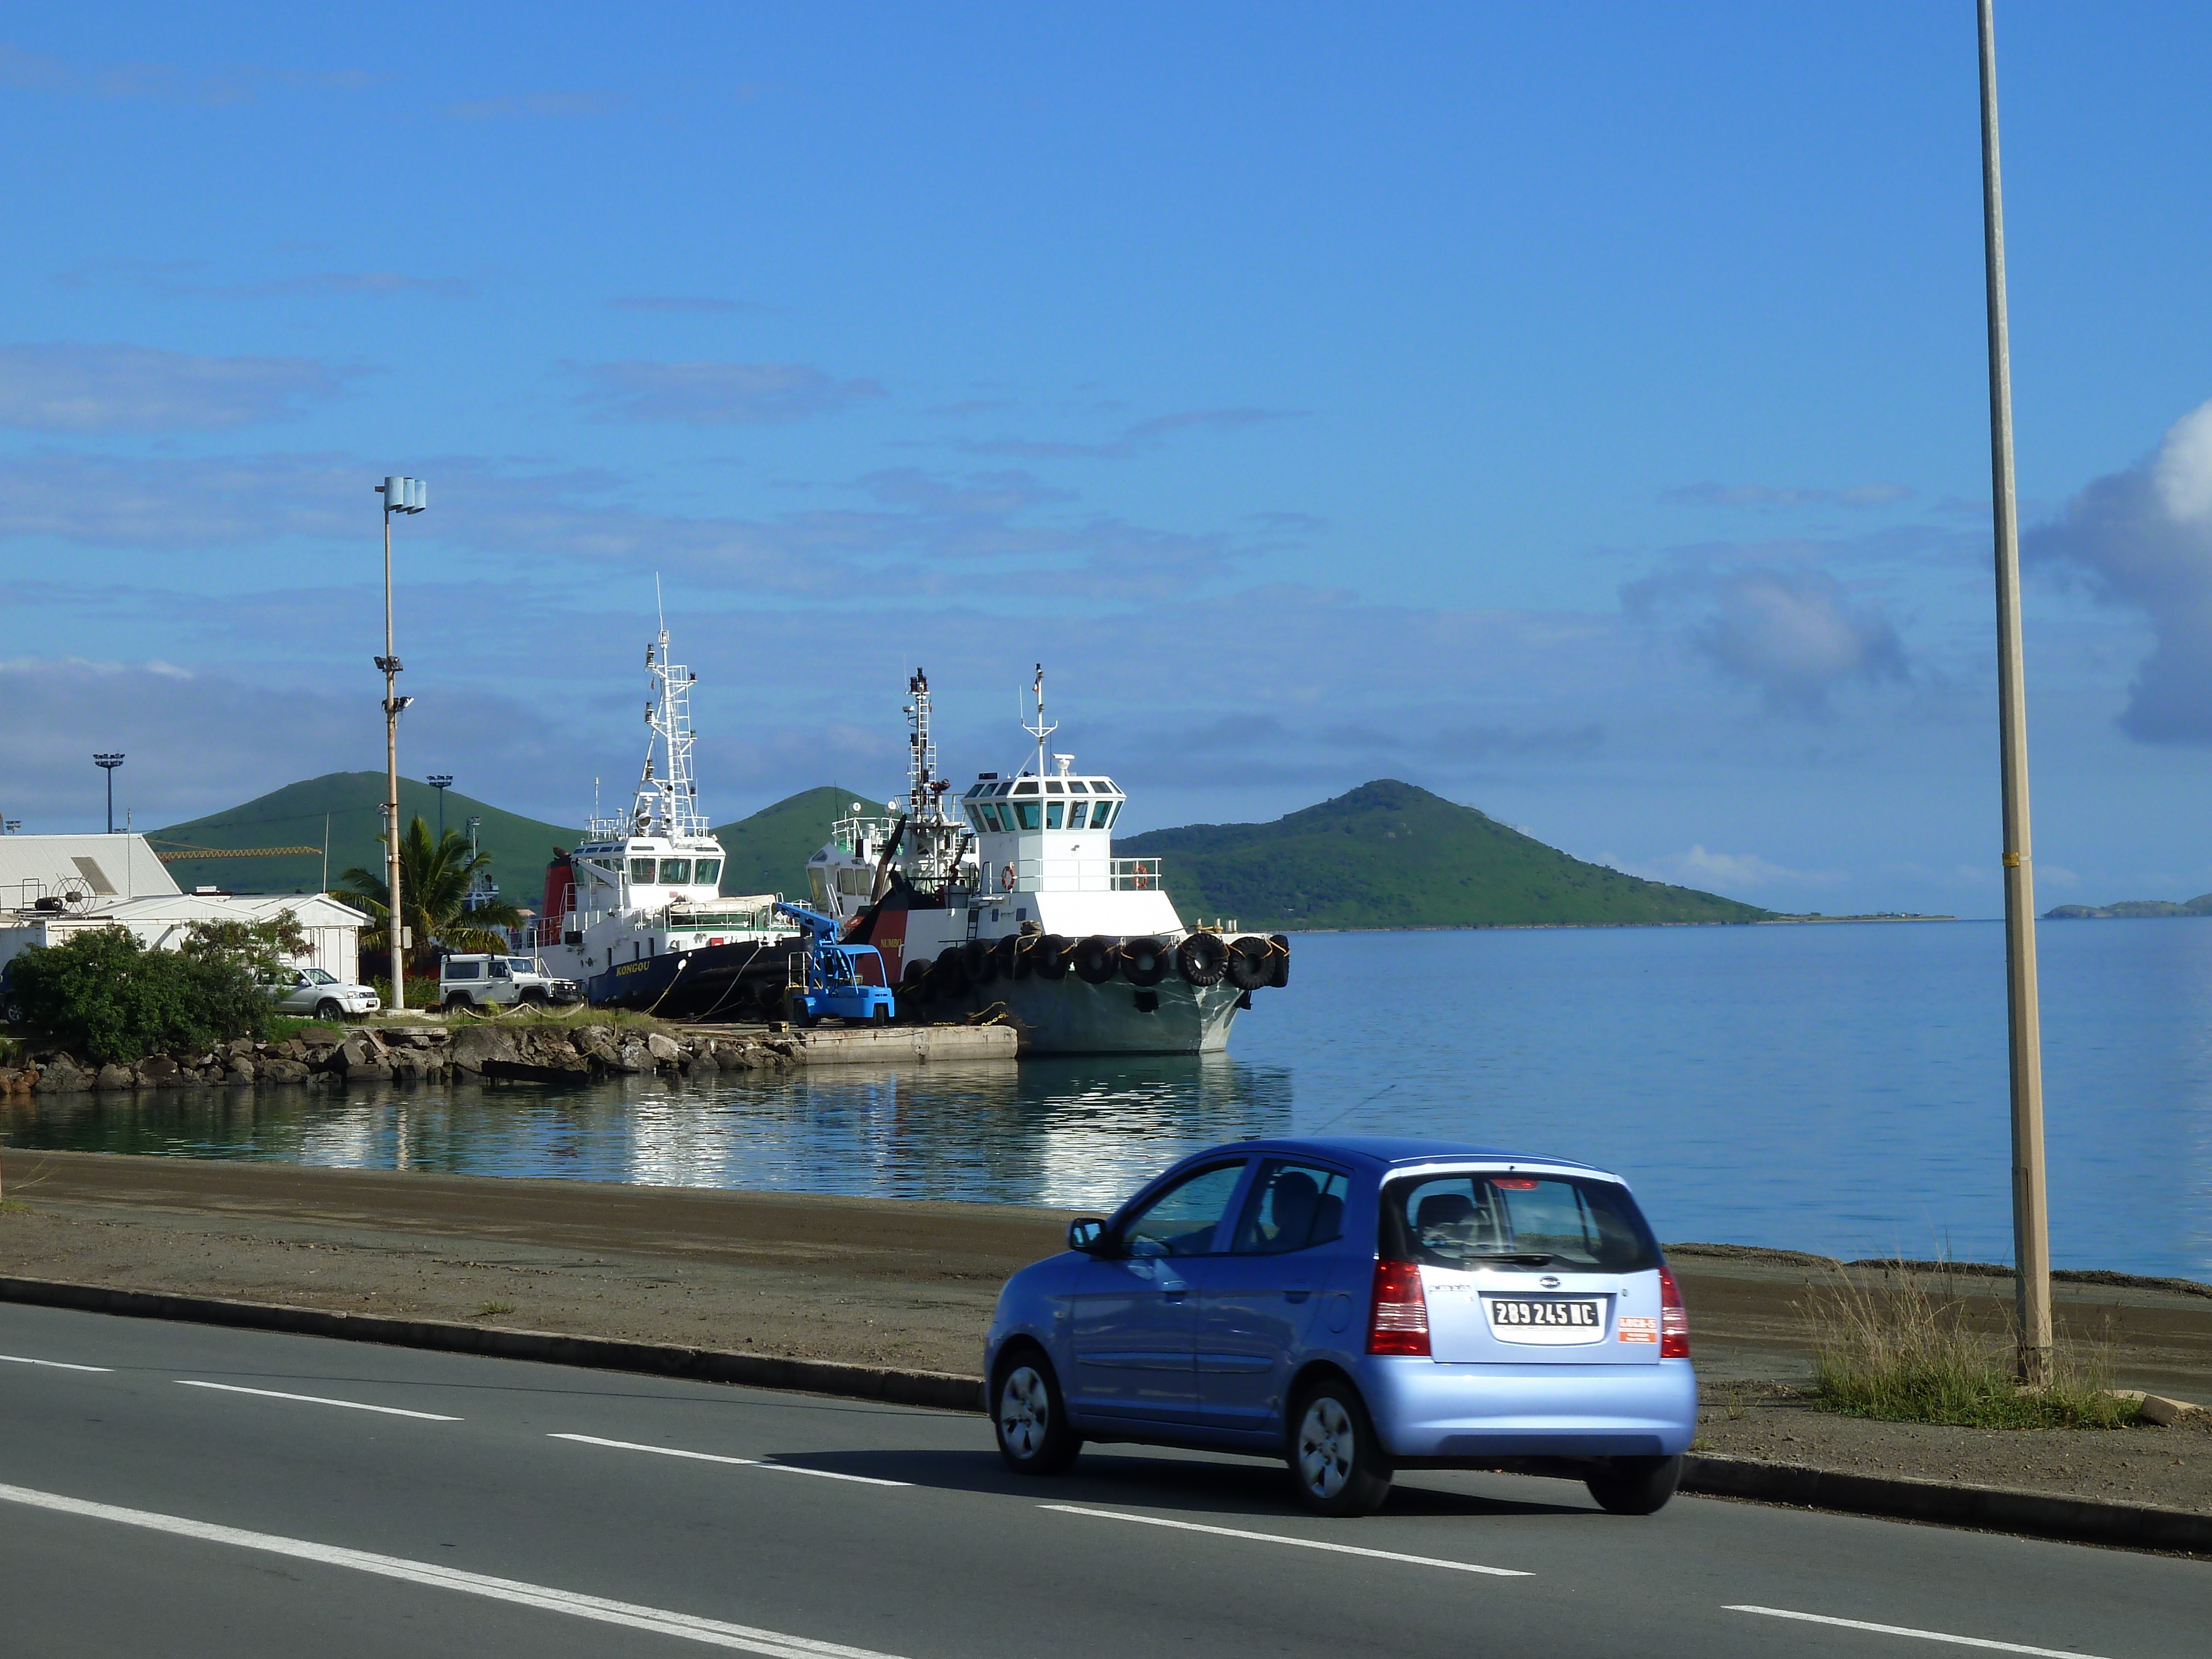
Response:
[[[2013,1332],[1978,1321],[1942,1270],[1898,1263],[1880,1283],[1838,1274],[1803,1312],[1823,1411],[1971,1429],[2121,1429],[2135,1420],[2135,1402],[2108,1387],[2101,1345],[2062,1345],[2057,1376],[2022,1389]]]

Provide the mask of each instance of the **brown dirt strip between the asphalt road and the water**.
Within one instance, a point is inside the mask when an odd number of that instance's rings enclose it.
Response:
[[[0,1152],[0,1274],[480,1321],[684,1347],[975,1371],[998,1287],[1068,1212],[292,1164]],[[1798,1303],[1818,1256],[1677,1245],[1699,1449],[2212,1513],[2212,1425],[2022,1433],[1812,1411]],[[1991,1321],[2008,1279],[1960,1285]],[[2112,1380],[2212,1402],[2212,1298],[2055,1290]]]

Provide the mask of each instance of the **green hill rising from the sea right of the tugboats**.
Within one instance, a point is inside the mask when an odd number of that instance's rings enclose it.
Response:
[[[1473,807],[1383,779],[1274,823],[1115,841],[1159,856],[1183,920],[1243,927],[1756,922],[1772,911],[1586,865]]]

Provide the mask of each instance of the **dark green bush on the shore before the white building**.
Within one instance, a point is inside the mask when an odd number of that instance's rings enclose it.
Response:
[[[27,1026],[102,1064],[261,1037],[272,1013],[243,953],[148,951],[122,927],[33,945],[9,984]]]

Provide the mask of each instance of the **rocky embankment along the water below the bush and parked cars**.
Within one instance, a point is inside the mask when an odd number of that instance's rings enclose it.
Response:
[[[157,1053],[131,1064],[80,1060],[33,1044],[29,1064],[0,1066],[0,1095],[86,1091],[310,1088],[363,1077],[394,1082],[597,1082],[646,1073],[781,1071],[801,1064],[803,1040],[774,1026],[717,1035],[635,1026],[307,1026],[281,1042],[239,1037],[206,1053]]]

